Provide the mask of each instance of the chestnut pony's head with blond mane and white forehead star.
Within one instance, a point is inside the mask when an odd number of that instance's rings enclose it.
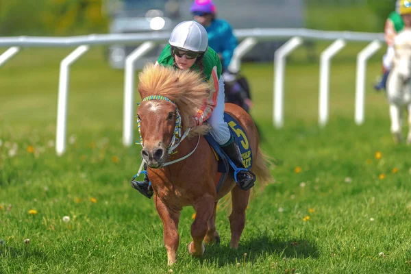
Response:
[[[208,97],[210,86],[195,71],[147,64],[139,75],[138,92],[142,102],[138,108],[142,158],[151,168],[161,168],[169,156],[169,148],[179,141]],[[196,127],[188,137],[203,134],[206,125]]]

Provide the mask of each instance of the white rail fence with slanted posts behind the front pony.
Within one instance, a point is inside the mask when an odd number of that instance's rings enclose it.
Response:
[[[312,29],[236,29],[234,33],[242,40],[234,52],[230,69],[238,71],[242,56],[260,41],[289,39],[274,53],[274,84],[273,84],[273,124],[275,127],[284,125],[284,77],[286,57],[303,43],[304,38],[314,40],[332,40],[332,45],[321,53],[320,86],[319,86],[319,125],[328,121],[329,105],[329,75],[330,61],[345,47],[347,41],[370,42],[357,57],[356,76],[356,112],[355,122],[364,123],[364,98],[366,80],[366,62],[382,46],[384,34],[362,32],[324,32]],[[123,113],[123,144],[133,144],[134,132],[134,61],[147,54],[155,45],[169,40],[168,32],[151,32],[141,34],[91,34],[73,37],[0,37],[0,47],[10,47],[0,55],[0,66],[10,60],[21,47],[76,47],[60,64],[60,80],[58,88],[58,114],[55,151],[62,155],[66,151],[66,121],[69,96],[70,66],[92,45],[110,44],[140,44],[125,60],[124,79],[124,113]]]

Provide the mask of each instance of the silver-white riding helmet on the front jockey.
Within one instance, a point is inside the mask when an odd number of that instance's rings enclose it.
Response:
[[[183,21],[171,32],[169,43],[172,47],[205,52],[208,47],[208,34],[206,29],[196,21]]]

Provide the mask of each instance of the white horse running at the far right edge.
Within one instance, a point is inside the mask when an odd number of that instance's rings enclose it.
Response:
[[[390,105],[391,134],[394,141],[402,141],[401,116],[403,108],[408,112],[407,144],[411,144],[411,28],[395,37],[393,69],[387,82],[387,99]]]

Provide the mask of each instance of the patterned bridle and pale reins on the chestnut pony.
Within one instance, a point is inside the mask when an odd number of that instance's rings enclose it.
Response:
[[[162,95],[151,95],[149,97],[145,97],[145,99],[142,99],[142,101],[151,101],[151,100],[162,100],[162,101],[168,101],[170,103],[173,103],[174,105],[177,106],[177,104],[172,101],[171,99],[162,96]],[[140,105],[140,103],[137,103],[137,105]],[[169,153],[169,155],[173,155],[175,153],[177,153],[177,151],[174,151],[179,144],[181,144],[182,140],[184,140],[184,138],[186,138],[188,136],[188,134],[190,133],[190,129],[191,127],[188,127],[188,129],[186,129],[186,131],[184,132],[184,134],[182,135],[182,116],[179,114],[179,109],[178,107],[175,109],[175,127],[174,127],[174,132],[173,132],[173,138],[171,138],[171,142],[170,145],[167,147],[167,153]],[[138,127],[138,134],[140,134],[140,145],[141,147],[144,148],[144,141],[142,140],[142,136],[141,136],[141,130],[140,130],[140,119],[137,119],[137,127]],[[173,160],[171,162],[166,162],[163,166],[169,166],[170,164],[175,164],[176,162],[180,162],[182,160],[185,160],[186,158],[190,157],[190,155],[192,155],[192,153],[194,153],[194,151],[197,149],[197,147],[199,146],[199,142],[200,142],[200,136],[199,136],[199,140],[197,140],[197,145],[195,146],[195,148],[188,153],[187,155],[183,156],[182,158],[179,158],[177,160]],[[136,142],[136,144],[138,144],[138,142]],[[144,160],[142,160],[140,169],[138,170],[138,175],[140,175],[141,171],[142,171],[142,167],[144,165]]]

